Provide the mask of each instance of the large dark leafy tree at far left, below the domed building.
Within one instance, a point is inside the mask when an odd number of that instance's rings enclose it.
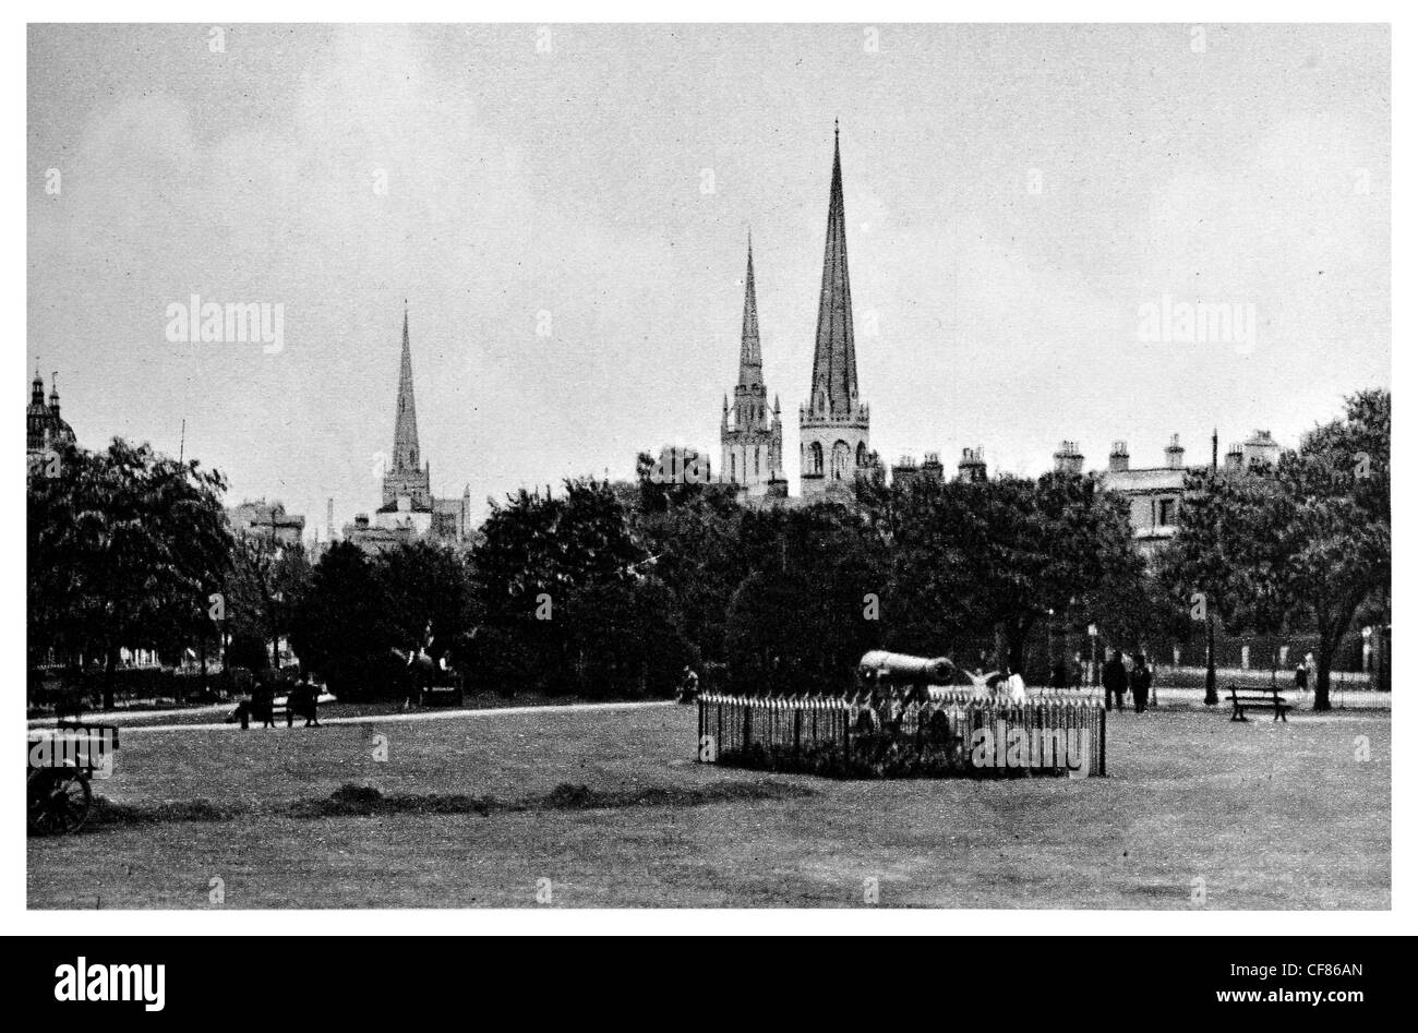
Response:
[[[122,438],[67,450],[57,465],[27,485],[35,646],[102,657],[112,708],[119,650],[193,634],[225,580],[225,480]]]

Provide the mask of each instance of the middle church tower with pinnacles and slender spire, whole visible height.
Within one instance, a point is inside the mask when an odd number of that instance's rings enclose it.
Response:
[[[759,345],[759,301],[753,289],[753,238],[749,240],[749,272],[743,285],[743,333],[739,343],[739,383],[733,407],[723,400],[719,423],[719,477],[740,485],[750,497],[769,492],[781,480],[783,417],[777,399],[769,411],[769,389],[763,383],[763,352]],[[784,484],[786,487],[786,484]]]

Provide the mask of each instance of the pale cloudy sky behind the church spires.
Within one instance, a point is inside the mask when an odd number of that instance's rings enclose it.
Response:
[[[1390,386],[1384,26],[217,38],[30,27],[24,390],[58,370],[82,444],[183,447],[322,536],[326,498],[336,528],[380,504],[406,301],[437,495],[718,460],[750,230],[795,494],[834,119],[888,463],[1161,465],[1174,433],[1204,461],[1212,427],[1293,446]],[[170,341],[194,294],[281,305],[281,350]],[[1168,304],[1255,335],[1156,339]]]

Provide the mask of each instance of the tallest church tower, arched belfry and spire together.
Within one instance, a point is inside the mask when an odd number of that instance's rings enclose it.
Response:
[[[842,156],[832,131],[832,190],[827,206],[822,289],[817,308],[817,346],[808,400],[798,410],[803,497],[852,498],[858,473],[871,464],[871,413],[856,396],[856,343],[852,287],[847,274],[847,213],[842,207]]]

